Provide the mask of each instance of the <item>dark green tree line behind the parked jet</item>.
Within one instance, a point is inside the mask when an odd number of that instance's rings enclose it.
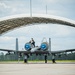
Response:
[[[24,55],[21,57],[18,56],[20,60],[24,59]],[[56,60],[75,60],[75,53],[68,53],[68,54],[58,54],[55,55]],[[10,53],[4,54],[3,52],[0,53],[0,61],[17,61],[17,55]],[[44,60],[44,55],[29,55],[28,60]],[[48,60],[52,60],[52,55],[48,55]]]

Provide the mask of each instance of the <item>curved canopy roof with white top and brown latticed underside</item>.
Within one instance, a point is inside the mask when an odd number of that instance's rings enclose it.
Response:
[[[0,34],[20,26],[27,26],[35,23],[53,23],[75,27],[75,21],[63,17],[45,14],[33,15],[30,17],[30,15],[22,14],[0,18]]]

